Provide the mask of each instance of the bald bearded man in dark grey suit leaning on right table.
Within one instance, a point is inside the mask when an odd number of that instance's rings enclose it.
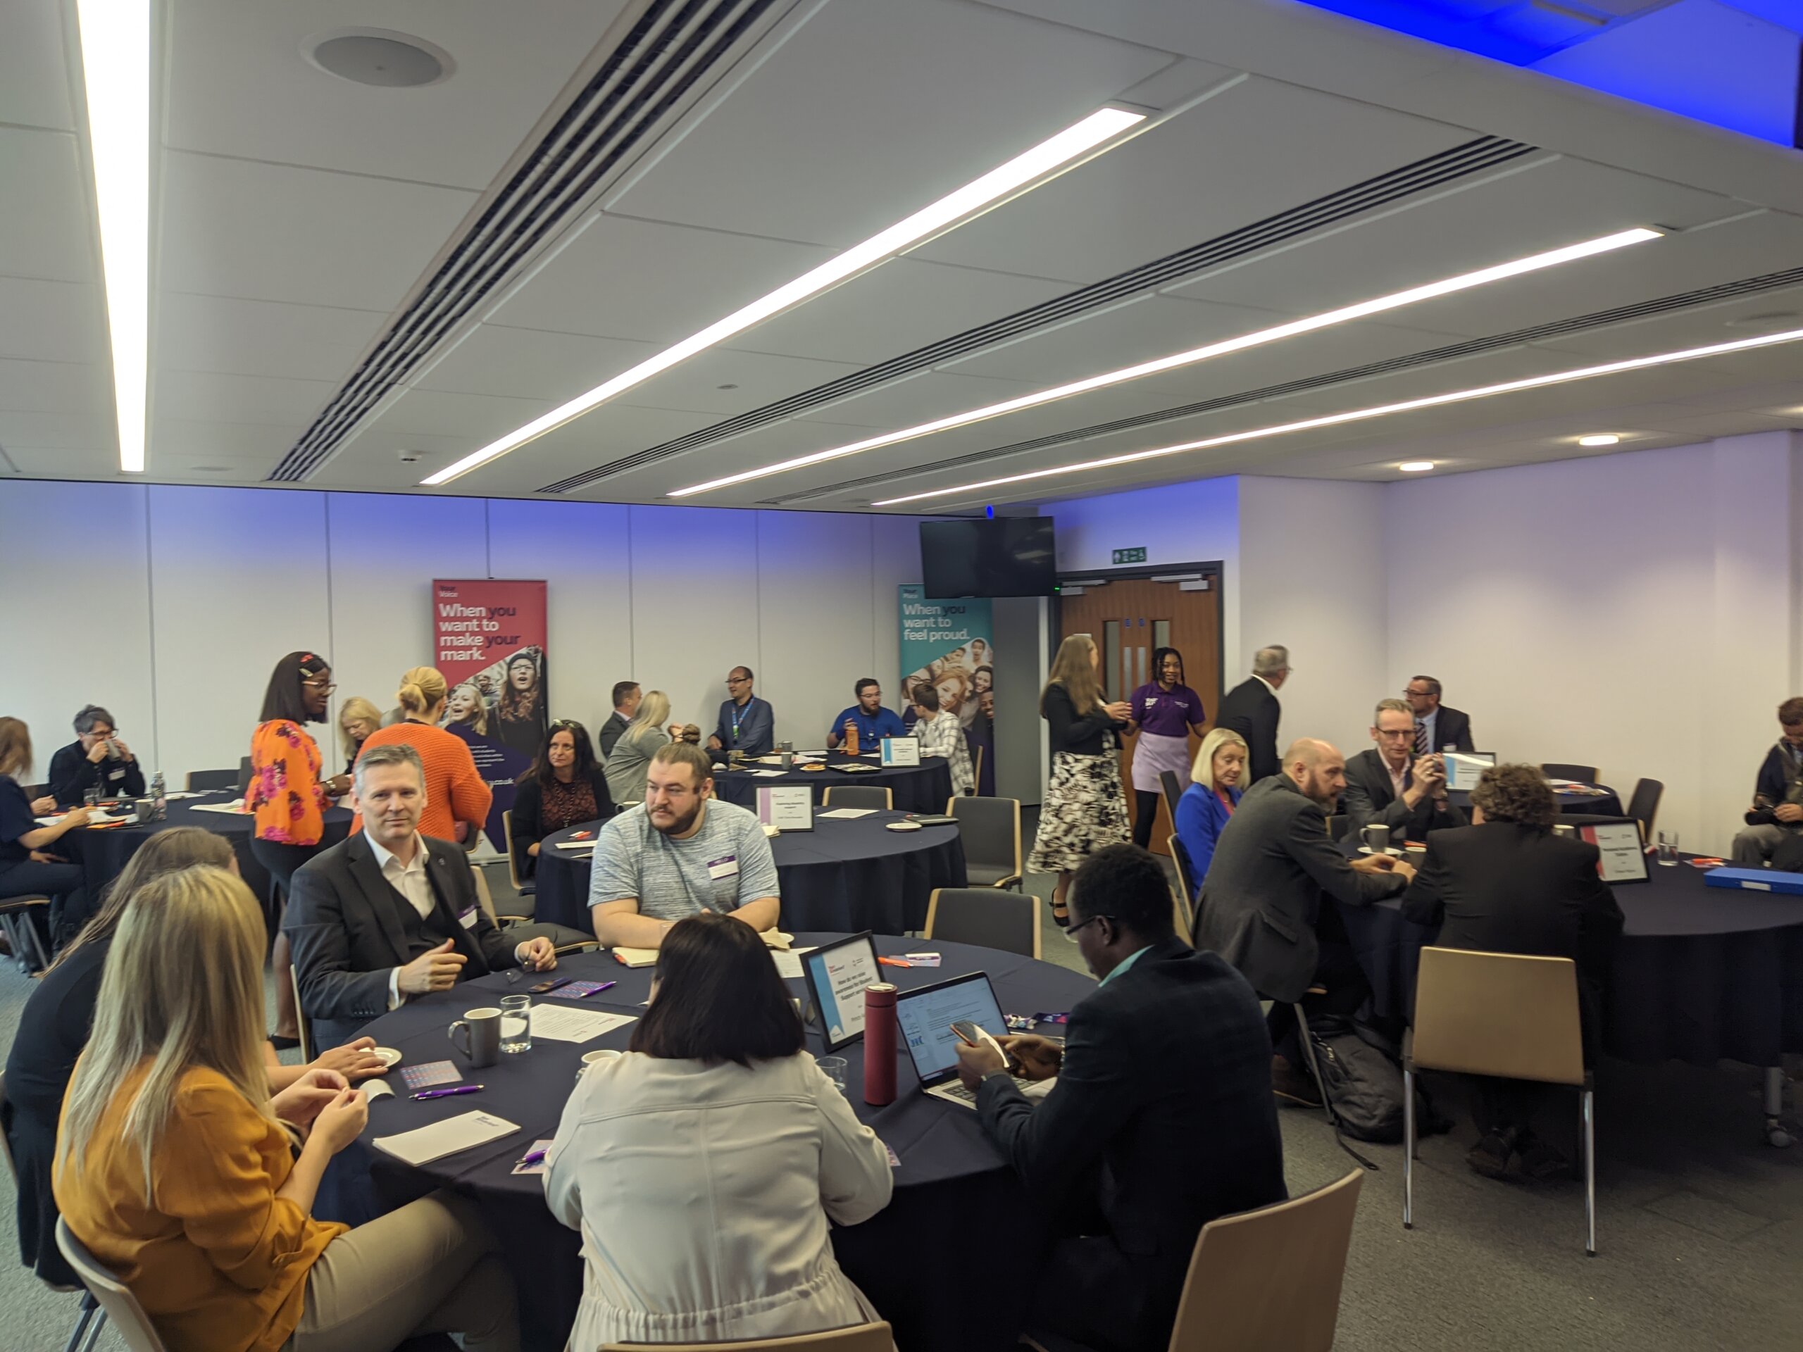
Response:
[[[1372,854],[1347,860],[1327,835],[1327,813],[1345,788],[1345,759],[1331,745],[1304,737],[1284,754],[1284,772],[1246,790],[1215,842],[1195,943],[1239,968],[1260,997],[1273,1000],[1275,1091],[1320,1103],[1302,1065],[1291,1004],[1307,1013],[1350,1015],[1368,993],[1347,939],[1343,905],[1396,896],[1415,872],[1403,860]],[[1325,993],[1311,995],[1311,986]]]

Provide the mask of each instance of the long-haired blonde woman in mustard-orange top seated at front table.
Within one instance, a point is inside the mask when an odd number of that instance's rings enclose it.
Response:
[[[251,891],[209,865],[146,885],[63,1101],[70,1231],[169,1352],[382,1352],[427,1332],[517,1352],[514,1283],[472,1204],[431,1193],[357,1229],[312,1219],[368,1101],[334,1071],[272,1098],[261,1008]],[[297,1156],[283,1123],[305,1134]]]

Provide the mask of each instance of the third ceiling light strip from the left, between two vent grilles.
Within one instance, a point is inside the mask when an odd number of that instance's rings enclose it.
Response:
[[[1578,261],[1579,258],[1594,258],[1596,254],[1612,252],[1615,249],[1644,243],[1646,240],[1657,240],[1661,236],[1662,236],[1661,231],[1646,229],[1643,225],[1637,225],[1628,231],[1615,231],[1614,234],[1605,234],[1596,240],[1583,240],[1581,243],[1570,243],[1565,245],[1563,249],[1551,249],[1542,254],[1516,258],[1509,263],[1498,263],[1496,267],[1478,269],[1477,272],[1462,272],[1455,278],[1442,278],[1441,281],[1430,281],[1423,287],[1410,287],[1408,290],[1399,290],[1390,296],[1377,296],[1370,301],[1343,305],[1338,310],[1327,310],[1323,314],[1307,315],[1304,319],[1293,319],[1287,324],[1260,328],[1253,333],[1240,333],[1239,337],[1222,339],[1221,343],[1210,343],[1201,348],[1190,348],[1188,352],[1176,352],[1170,353],[1168,357],[1158,357],[1154,361],[1139,362],[1136,366],[1123,366],[1118,371],[1105,371],[1102,375],[1091,375],[1084,380],[1073,380],[1069,384],[1053,386],[1051,389],[1039,389],[1031,395],[1020,395],[1019,398],[1002,400],[1001,404],[988,404],[979,409],[968,409],[966,413],[954,413],[947,418],[923,422],[916,427],[903,427],[902,431],[896,433],[869,436],[862,442],[833,447],[829,451],[815,451],[806,456],[795,456],[793,460],[783,460],[775,465],[764,465],[763,469],[748,469],[739,474],[727,474],[725,478],[709,480],[707,483],[696,483],[689,489],[678,489],[676,492],[671,494],[671,498],[692,498],[694,494],[714,492],[716,489],[728,489],[734,483],[746,483],[750,480],[768,478],[770,474],[786,474],[788,470],[804,469],[806,465],[819,465],[826,460],[856,456],[865,451],[876,451],[885,445],[896,445],[898,442],[911,442],[918,436],[932,436],[934,433],[950,431],[952,427],[966,427],[974,422],[1001,418],[1002,415],[1039,407],[1040,404],[1053,404],[1062,398],[1075,398],[1076,395],[1087,395],[1091,391],[1123,384],[1127,380],[1141,380],[1149,375],[1170,371],[1179,366],[1194,366],[1195,362],[1204,362],[1210,361],[1212,357],[1224,357],[1226,353],[1231,352],[1244,352],[1246,348],[1258,348],[1268,343],[1280,343],[1282,339],[1298,337],[1302,333],[1313,333],[1316,330],[1329,328],[1332,324],[1345,324],[1356,319],[1368,319],[1374,314],[1401,310],[1403,306],[1417,305],[1421,301],[1430,301],[1439,296],[1451,296],[1453,292],[1471,290],[1473,287],[1487,287],[1495,281],[1518,278],[1527,272],[1540,272],[1549,267]]]

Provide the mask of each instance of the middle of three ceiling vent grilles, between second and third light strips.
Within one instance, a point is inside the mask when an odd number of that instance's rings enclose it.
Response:
[[[1477,141],[1468,141],[1466,144],[1453,146],[1439,155],[1430,155],[1423,160],[1415,160],[1414,164],[1405,164],[1399,169],[1390,169],[1376,178],[1367,178],[1359,184],[1352,184],[1350,187],[1343,187],[1338,193],[1329,193],[1327,196],[1314,198],[1313,202],[1291,207],[1289,211],[1282,211],[1275,216],[1266,216],[1251,225],[1230,231],[1228,234],[1204,240],[1190,249],[1181,249],[1176,254],[1158,258],[1150,263],[1141,263],[1136,269],[1129,269],[1127,272],[1120,272],[1112,278],[1103,278],[1102,281],[1066,292],[1064,296],[1042,301],[1026,310],[1019,310],[1017,314],[993,319],[986,324],[979,324],[977,328],[965,330],[963,333],[952,333],[950,337],[939,339],[925,348],[916,348],[914,352],[902,353],[900,357],[891,357],[878,366],[853,371],[851,375],[829,380],[824,386],[815,386],[813,389],[804,389],[799,395],[790,395],[775,404],[764,404],[763,407],[750,409],[736,418],[716,422],[712,427],[701,427],[687,436],[678,436],[671,442],[664,442],[662,445],[653,445],[645,451],[622,456],[620,460],[611,460],[606,465],[582,470],[581,474],[572,474],[557,483],[546,483],[539,489],[539,492],[572,492],[595,483],[597,480],[644,469],[645,465],[660,460],[680,456],[685,451],[723,442],[728,436],[739,436],[757,427],[768,427],[773,422],[783,422],[784,418],[813,413],[828,404],[864,393],[874,386],[900,380],[905,375],[916,375],[918,371],[930,370],[957,357],[968,357],[1037,328],[1046,328],[1075,315],[1100,310],[1127,296],[1168,287],[1197,272],[1204,272],[1206,269],[1255,254],[1262,249],[1271,249],[1273,245],[1318,231],[1323,225],[1334,225],[1358,216],[1359,213],[1372,211],[1374,207],[1390,206],[1392,202],[1414,196],[1415,193],[1441,187],[1457,178],[1491,169],[1498,164],[1507,164],[1509,160],[1533,151],[1534,146],[1525,146],[1520,141],[1504,141],[1502,137],[1478,137]]]

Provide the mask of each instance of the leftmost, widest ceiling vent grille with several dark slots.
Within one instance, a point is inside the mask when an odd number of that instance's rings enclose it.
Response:
[[[472,306],[586,209],[595,187],[775,4],[653,0],[270,480],[299,481],[319,469]]]

